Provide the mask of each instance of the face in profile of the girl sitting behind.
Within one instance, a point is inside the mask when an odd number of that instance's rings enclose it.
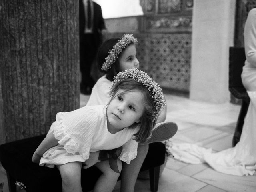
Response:
[[[136,58],[135,45],[129,45],[118,57],[120,71],[125,71],[131,68],[139,68],[140,62]]]

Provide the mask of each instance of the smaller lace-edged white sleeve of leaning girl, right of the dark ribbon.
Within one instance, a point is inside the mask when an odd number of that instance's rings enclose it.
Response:
[[[137,156],[138,142],[136,142],[136,140],[130,139],[122,147],[123,150],[118,158],[121,161],[130,164],[131,160],[135,159]]]

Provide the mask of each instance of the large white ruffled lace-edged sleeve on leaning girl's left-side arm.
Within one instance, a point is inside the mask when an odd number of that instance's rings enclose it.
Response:
[[[88,159],[97,122],[101,118],[95,106],[86,106],[71,112],[59,112],[56,115],[54,136],[68,153],[78,152],[84,159]]]

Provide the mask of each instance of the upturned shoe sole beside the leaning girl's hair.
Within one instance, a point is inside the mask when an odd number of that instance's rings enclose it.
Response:
[[[170,139],[176,134],[178,126],[176,123],[166,122],[153,129],[151,137],[143,144],[160,142]]]

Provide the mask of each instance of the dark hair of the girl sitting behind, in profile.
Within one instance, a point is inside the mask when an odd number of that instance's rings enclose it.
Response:
[[[106,58],[108,56],[109,50],[113,49],[114,45],[117,44],[118,40],[120,38],[111,38],[106,40],[99,48],[98,54],[97,54],[97,66],[100,72],[103,72],[106,74],[106,78],[110,81],[114,80],[114,76],[116,76],[120,72],[120,64],[119,60],[116,59],[116,61],[113,63],[112,67],[108,69],[107,71],[102,70],[102,64],[106,61]],[[132,45],[134,43],[131,43]],[[130,46],[129,45],[129,46]],[[125,48],[124,48],[125,50]],[[124,51],[122,50],[122,51]]]

